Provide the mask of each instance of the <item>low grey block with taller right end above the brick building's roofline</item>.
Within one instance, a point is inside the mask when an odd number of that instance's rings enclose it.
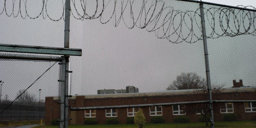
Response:
[[[135,88],[135,86],[126,86],[126,89],[97,90],[97,94],[117,94],[117,93],[139,93],[139,88]]]

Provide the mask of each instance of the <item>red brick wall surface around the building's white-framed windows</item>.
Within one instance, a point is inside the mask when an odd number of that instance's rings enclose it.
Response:
[[[91,107],[91,106],[117,106],[117,105],[131,105],[131,104],[154,104],[154,103],[170,103],[170,102],[188,102],[188,101],[200,101],[207,100],[207,94],[190,94],[190,95],[164,95],[164,96],[143,96],[143,97],[107,97],[107,98],[85,98],[84,96],[77,96],[75,99],[70,100],[72,107]],[[215,100],[256,100],[255,92],[230,92],[230,93],[213,93],[213,99]],[[54,119],[55,114],[58,110],[49,106],[56,106],[56,102],[53,101],[52,97],[46,99],[46,116],[45,124],[48,125],[51,119]],[[244,103],[233,103],[234,114],[237,115],[238,120],[248,120],[256,117],[256,113],[245,113]],[[198,104],[186,104],[185,111],[186,116],[190,117],[191,121],[198,121],[201,115],[196,115],[196,109]],[[206,108],[207,109],[207,108]],[[223,120],[223,115],[220,113],[220,103],[214,103],[214,120]],[[146,123],[150,123],[150,110],[149,107],[142,107],[143,113],[146,117]],[[71,121],[72,124],[83,124],[84,111],[72,112],[75,121]],[[75,113],[75,114],[74,114]],[[173,118],[179,115],[173,115],[172,106],[162,106],[162,117],[165,122],[173,122]],[[51,115],[51,116],[50,116]],[[127,119],[127,108],[120,108],[117,110],[117,119],[119,123],[126,123]],[[71,116],[71,115],[70,115]],[[96,119],[99,124],[105,124],[106,110],[96,110]]]

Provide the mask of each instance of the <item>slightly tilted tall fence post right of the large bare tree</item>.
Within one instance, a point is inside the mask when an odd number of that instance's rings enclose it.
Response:
[[[210,80],[210,69],[209,69],[209,60],[208,60],[208,50],[207,50],[207,37],[205,31],[205,17],[203,12],[203,3],[200,2],[200,13],[201,13],[201,24],[203,31],[203,48],[205,53],[205,71],[206,71],[206,79],[207,79],[207,90],[209,95],[209,110],[211,117],[211,128],[214,128],[214,116],[213,116],[213,107],[212,107],[212,87]]]

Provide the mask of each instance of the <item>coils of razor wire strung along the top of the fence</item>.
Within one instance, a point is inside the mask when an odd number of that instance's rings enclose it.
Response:
[[[188,11],[188,9],[172,7],[170,0],[168,1],[71,0],[71,14],[79,20],[99,18],[102,24],[113,22],[114,26],[119,26],[123,23],[129,29],[134,27],[146,29],[148,32],[154,32],[157,38],[167,39],[172,43],[194,43],[202,40],[199,6],[193,11]],[[64,19],[64,0],[2,0],[1,2],[0,15],[17,17],[20,14],[22,18],[31,19],[42,16],[53,21]],[[207,7],[204,7],[207,38],[256,35],[255,11],[212,5]],[[239,5],[239,7],[244,6]],[[244,8],[256,10],[252,6]]]

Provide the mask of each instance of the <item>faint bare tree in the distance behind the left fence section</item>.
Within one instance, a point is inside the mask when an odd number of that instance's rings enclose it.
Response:
[[[19,90],[17,94],[17,102],[19,102],[20,104],[35,104],[35,97],[33,97],[27,91],[25,91],[24,93],[23,92],[24,90]]]

